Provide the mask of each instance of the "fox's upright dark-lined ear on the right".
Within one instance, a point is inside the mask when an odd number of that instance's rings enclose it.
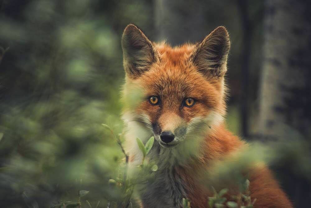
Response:
[[[190,61],[208,78],[223,77],[227,71],[230,38],[225,27],[217,27],[198,43]]]

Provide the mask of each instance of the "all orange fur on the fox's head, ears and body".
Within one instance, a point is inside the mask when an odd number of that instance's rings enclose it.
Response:
[[[221,120],[226,108],[228,32],[218,27],[201,43],[171,47],[165,42],[152,43],[136,26],[129,25],[123,33],[122,46],[126,71],[123,99],[126,100],[133,86],[140,87],[143,94],[142,101],[134,109],[124,109],[124,114],[133,111],[148,116],[155,126],[153,130],[159,132],[187,126],[194,118],[217,115],[207,124],[210,129],[200,141],[200,151],[191,158],[192,162],[174,167],[185,182],[191,205],[207,207],[212,193],[200,182],[201,176],[211,171],[216,162],[228,160],[247,148],[247,144],[226,130]],[[161,99],[159,105],[149,103],[148,97],[153,95]],[[183,107],[185,97],[197,102],[192,107]],[[130,138],[127,142],[130,161],[134,161],[139,158],[137,144]],[[267,167],[254,164],[245,171],[251,197],[257,199],[254,207],[292,207]]]

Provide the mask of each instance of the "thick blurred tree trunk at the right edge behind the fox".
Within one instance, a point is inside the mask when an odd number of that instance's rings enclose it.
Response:
[[[311,5],[307,2],[265,2],[259,132],[269,139],[311,138]],[[308,207],[310,182],[285,165],[281,170],[295,207]]]

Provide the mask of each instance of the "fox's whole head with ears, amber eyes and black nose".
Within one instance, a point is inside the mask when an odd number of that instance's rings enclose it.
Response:
[[[225,27],[197,44],[170,47],[150,41],[130,24],[123,32],[122,49],[127,137],[146,141],[153,135],[161,148],[174,148],[220,124],[230,49]]]

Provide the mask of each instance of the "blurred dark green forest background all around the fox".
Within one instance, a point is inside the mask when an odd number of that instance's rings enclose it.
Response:
[[[281,186],[308,207],[309,8],[302,0],[0,1],[0,206],[107,207],[118,197],[108,180],[123,154],[101,124],[122,132],[120,40],[134,23],[171,45],[226,26],[227,126],[269,146]],[[80,190],[90,192],[80,199]]]

